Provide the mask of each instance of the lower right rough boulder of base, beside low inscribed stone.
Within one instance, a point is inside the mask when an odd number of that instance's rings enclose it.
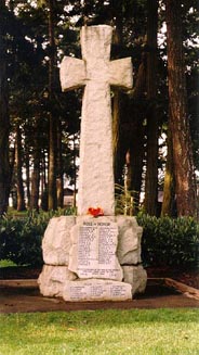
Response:
[[[147,282],[147,274],[143,266],[122,266],[122,269],[123,281],[132,286],[132,295],[143,293]]]

